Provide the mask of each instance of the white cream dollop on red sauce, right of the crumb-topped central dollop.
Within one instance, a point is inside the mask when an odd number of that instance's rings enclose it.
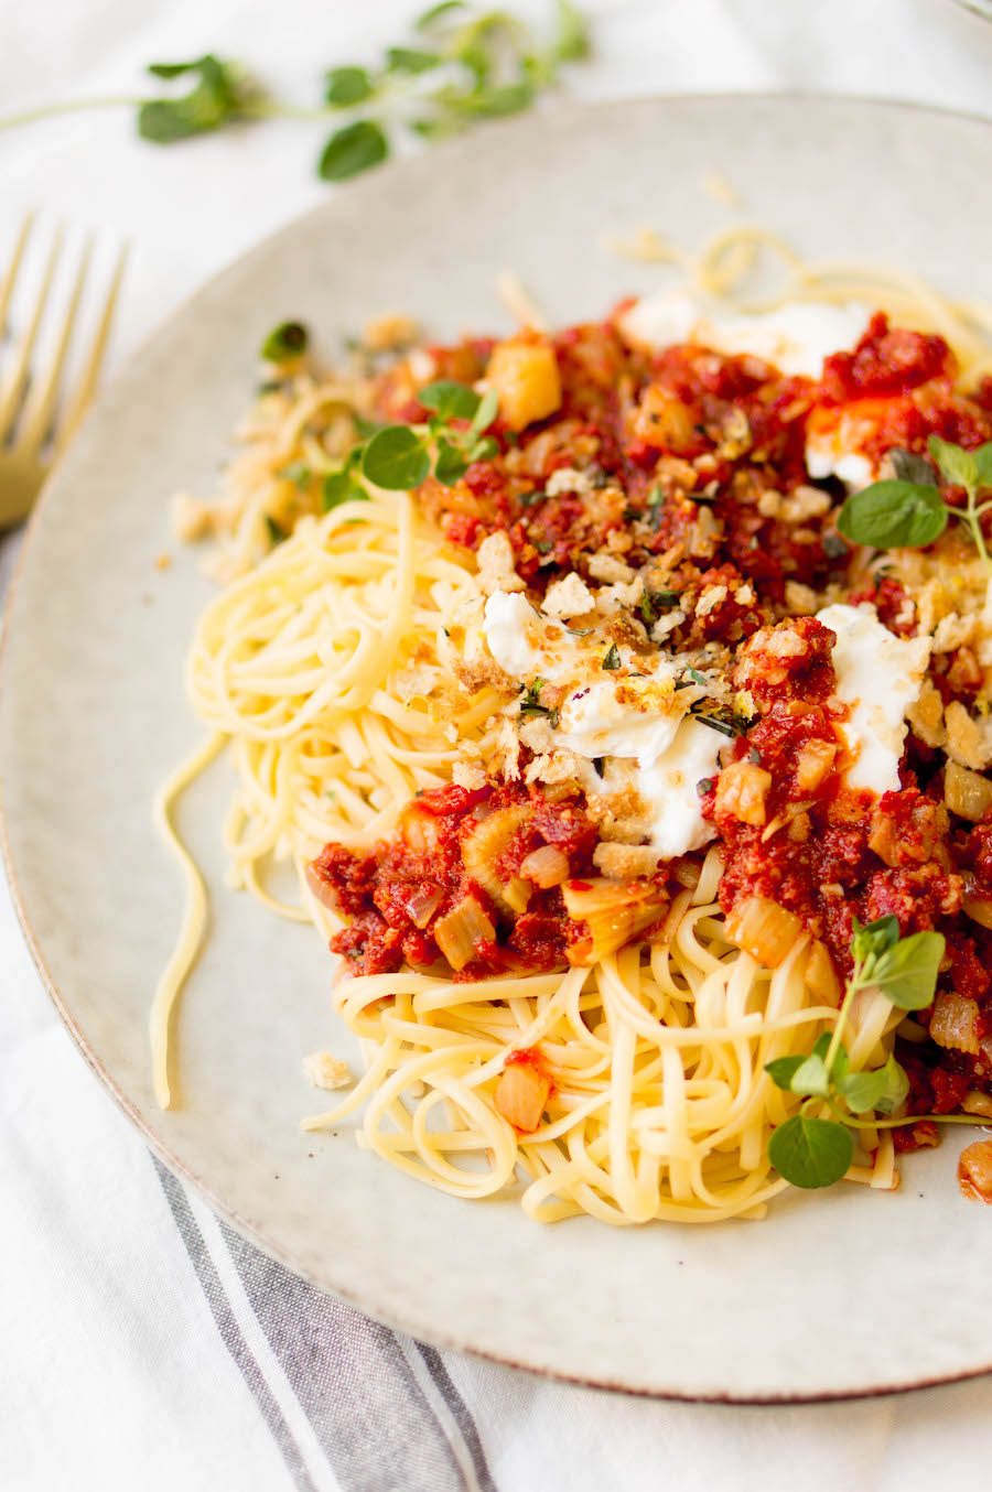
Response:
[[[895,791],[905,712],[919,698],[929,637],[895,637],[871,606],[826,606],[816,619],[837,633],[837,694],[850,706],[841,733],[855,756],[847,782],[879,794]]]

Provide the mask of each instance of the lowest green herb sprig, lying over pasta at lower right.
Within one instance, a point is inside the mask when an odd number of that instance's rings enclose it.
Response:
[[[873,1071],[852,1071],[841,1035],[850,1004],[861,989],[877,989],[898,1010],[925,1010],[937,989],[944,955],[940,932],[900,937],[894,916],[862,927],[855,918],[850,953],[855,970],[837,1012],[832,1032],[816,1038],[809,1056],[779,1056],[765,1064],[777,1088],[804,1098],[798,1115],[780,1123],[768,1140],[768,1159],[794,1186],[832,1186],[846,1174],[853,1153],[852,1115],[892,1115],[910,1091],[894,1056]],[[832,1119],[813,1110],[826,1104]]]

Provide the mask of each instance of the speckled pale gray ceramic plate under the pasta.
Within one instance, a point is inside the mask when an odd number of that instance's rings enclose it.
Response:
[[[345,1052],[312,931],[222,885],[225,768],[180,827],[215,892],[178,1022],[180,1107],[155,1107],[148,1004],[180,915],[151,828],[161,777],[197,740],[180,686],[209,595],[170,570],[167,497],[209,491],[252,389],[261,334],[304,316],[333,348],[397,307],[439,334],[504,325],[513,269],[558,321],[658,272],[607,233],[686,245],[753,221],[801,249],[913,267],[989,294],[989,127],[868,103],[671,98],[561,107],[352,184],[242,260],[130,363],[34,521],[0,697],[6,841],[39,967],[82,1052],[151,1144],[292,1270],[436,1343],[564,1377],[729,1399],[907,1388],[992,1365],[992,1213],[959,1200],[956,1143],[910,1159],[902,1191],[788,1197],[762,1225],[539,1228],[513,1203],[459,1203],[360,1150],[301,1135],[300,1055]],[[974,227],[974,225],[973,225]],[[844,1331],[831,1332],[843,1317]]]

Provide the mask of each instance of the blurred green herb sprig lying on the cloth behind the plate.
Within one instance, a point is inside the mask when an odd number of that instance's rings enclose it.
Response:
[[[131,107],[137,133],[155,145],[269,118],[340,119],[318,158],[324,181],[346,181],[386,160],[386,128],[425,140],[443,139],[480,119],[528,109],[558,84],[562,64],[585,60],[589,27],[571,0],[555,0],[553,33],[540,45],[507,10],[479,10],[464,0],[431,6],[415,22],[422,45],[389,46],[379,67],[343,64],[324,75],[318,107],[269,94],[240,63],[206,54],[188,63],[152,63],[152,78],[180,90],[148,97],[78,98],[0,119],[1,128],[82,109]]]

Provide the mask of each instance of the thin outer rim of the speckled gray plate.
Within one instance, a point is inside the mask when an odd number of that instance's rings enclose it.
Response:
[[[820,93],[816,90],[782,90],[782,91],[683,90],[683,91],[671,91],[661,94],[638,93],[622,98],[595,98],[595,100],[565,98],[565,100],[556,100],[547,110],[536,110],[522,116],[494,121],[491,127],[486,130],[486,136],[492,136],[494,133],[498,131],[504,134],[519,133],[521,136],[525,136],[528,133],[528,127],[533,125],[534,118],[540,118],[541,112],[553,112],[555,116],[558,118],[561,115],[568,115],[568,113],[574,116],[588,116],[591,113],[607,113],[607,112],[624,113],[628,109],[632,110],[643,104],[692,103],[698,104],[700,107],[712,107],[713,104],[726,104],[731,101],[738,104],[747,104],[747,103],[755,103],[759,106],[771,104],[773,107],[779,104],[798,107],[806,103],[814,103],[817,106],[838,106],[843,109],[849,104],[853,104],[858,107],[867,107],[870,110],[889,112],[895,116],[905,113],[929,115],[946,119],[959,119],[970,125],[979,125],[986,131],[989,131],[989,139],[992,140],[992,115],[982,115],[964,109],[953,109],[943,104],[922,103],[917,100],[901,100],[901,98],[861,95],[850,93]],[[477,136],[474,133],[470,133],[455,140],[442,142],[439,146],[431,148],[430,157],[431,160],[439,160],[442,155],[445,158],[448,157],[456,158],[461,155],[471,157],[473,142],[476,137]],[[368,173],[368,176],[364,178],[361,182],[351,184],[348,189],[348,197],[357,197],[362,191],[374,188],[377,184],[383,181],[383,176],[392,178],[406,172],[410,166],[410,161],[422,157],[421,155],[400,157],[388,161],[383,169]],[[248,263],[251,263],[257,257],[267,255],[282,239],[289,239],[291,236],[298,233],[300,228],[309,227],[309,224],[313,219],[318,219],[324,215],[333,215],[334,203],[337,200],[339,200],[337,192],[334,192],[334,195],[325,198],[324,201],[315,203],[301,213],[288,218],[276,228],[263,234],[263,237],[252,242],[240,254],[233,255],[219,269],[210,273],[206,279],[200,280],[189,294],[183,295],[183,298],[179,303],[176,303],[169,310],[166,310],[160,318],[157,318],[151,325],[151,328],[140,339],[140,342],[127,354],[121,366],[115,370],[113,376],[103,386],[100,395],[97,397],[91,409],[87,412],[87,416],[81,428],[85,430],[90,425],[94,413],[97,413],[97,410],[103,406],[107,397],[112,392],[115,392],[119,385],[124,385],[130,379],[133,367],[137,367],[142,358],[145,357],[145,349],[149,345],[155,343],[173,325],[173,322],[176,322],[179,318],[183,318],[201,297],[212,295],[215,289],[219,285],[222,285],[222,282],[228,278],[228,275],[240,272]],[[3,624],[0,628],[0,691],[3,689],[3,683],[6,680],[7,670],[10,667],[9,653],[10,653],[10,631],[12,631],[13,610],[16,604],[16,595],[19,591],[21,579],[30,562],[30,557],[33,554],[36,543],[36,536],[40,527],[37,518],[39,513],[48,507],[52,492],[58,489],[60,486],[58,479],[63,464],[66,461],[66,457],[75,449],[75,445],[76,442],[73,440],[70,443],[69,452],[63,452],[63,455],[60,455],[60,458],[54,463],[45,480],[45,485],[34,503],[24,537],[21,540],[19,554],[16,557],[16,562],[13,567],[13,573],[10,576],[10,583],[3,604]],[[985,1364],[979,1367],[964,1368],[961,1371],[940,1373],[934,1376],[913,1377],[892,1383],[871,1385],[853,1389],[835,1389],[835,1391],[825,1389],[817,1392],[795,1392],[795,1394],[776,1392],[776,1391],[767,1391],[759,1394],[735,1394],[732,1391],[686,1392],[677,1388],[631,1385],[619,1379],[610,1377],[609,1374],[589,1377],[582,1373],[568,1373],[565,1370],[552,1368],[547,1365],[534,1365],[530,1362],[521,1362],[516,1361],[509,1353],[465,1343],[459,1340],[456,1334],[446,1331],[443,1328],[437,1329],[430,1328],[425,1332],[421,1322],[412,1323],[409,1319],[404,1319],[400,1310],[388,1308],[382,1311],[374,1308],[374,1306],[370,1307],[365,1303],[365,1300],[361,1298],[361,1292],[358,1291],[342,1288],[340,1285],[334,1285],[333,1289],[328,1288],[328,1285],[315,1279],[310,1271],[297,1264],[292,1249],[283,1244],[271,1243],[264,1235],[264,1232],[254,1223],[248,1222],[237,1212],[234,1206],[225,1203],[212,1189],[212,1186],[200,1174],[197,1174],[197,1171],[189,1164],[183,1162],[179,1156],[173,1155],[169,1144],[164,1143],[161,1137],[154,1131],[154,1128],[145,1120],[142,1113],[136,1109],[136,1106],[127,1097],[124,1089],[119,1086],[118,1080],[110,1074],[110,1071],[104,1067],[104,1064],[100,1061],[100,1058],[90,1046],[79,1024],[73,1018],[70,1007],[63,998],[63,994],[52,973],[48,968],[42,946],[31,925],[27,904],[22,895],[22,888],[15,868],[13,850],[7,833],[7,794],[10,795],[10,798],[13,798],[13,791],[7,782],[6,762],[0,759],[0,858],[3,861],[3,868],[7,879],[10,900],[27,949],[31,955],[31,961],[34,962],[42,985],[49,1000],[52,1001],[60,1021],[69,1031],[73,1044],[82,1055],[90,1070],[98,1079],[101,1088],[113,1100],[118,1110],[122,1112],[124,1116],[134,1125],[134,1128],[142,1135],[152,1155],[173,1176],[176,1176],[185,1185],[189,1185],[197,1192],[197,1195],[210,1207],[210,1210],[224,1222],[227,1222],[240,1237],[246,1238],[261,1253],[288,1268],[292,1274],[295,1274],[298,1279],[303,1279],[312,1288],[345,1301],[348,1306],[361,1311],[364,1316],[368,1316],[373,1320],[377,1320],[394,1329],[404,1331],[409,1335],[413,1335],[416,1340],[428,1341],[433,1346],[442,1347],[445,1350],[452,1350],[465,1353],[468,1356],[482,1358],[483,1361],[494,1362],[501,1367],[513,1368],[518,1371],[530,1373],[541,1379],[549,1379],[552,1382],[562,1382],[580,1388],[600,1389],[604,1392],[618,1392],[634,1398],[644,1398],[649,1401],[659,1399],[668,1402],[718,1404],[718,1405],[722,1404],[722,1405],[740,1405],[740,1407],[773,1407],[773,1405],[785,1407],[785,1405],[804,1405],[804,1404],[816,1405],[816,1404],[850,1402],[850,1401],[873,1399],[873,1398],[888,1398],[897,1394],[911,1394],[923,1389],[932,1389],[953,1383],[967,1383],[974,1379],[992,1376],[992,1356],[989,1356],[989,1359]]]

